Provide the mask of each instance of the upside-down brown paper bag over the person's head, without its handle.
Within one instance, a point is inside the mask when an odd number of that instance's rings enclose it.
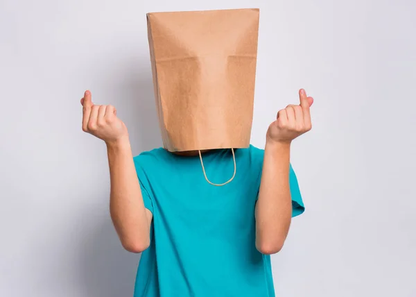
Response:
[[[164,148],[250,145],[259,9],[148,13]]]

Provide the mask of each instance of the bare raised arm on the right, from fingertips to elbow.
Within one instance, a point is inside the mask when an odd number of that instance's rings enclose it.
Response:
[[[291,142],[311,130],[312,97],[300,90],[300,105],[288,105],[268,128],[256,204],[256,246],[263,254],[281,250],[292,218],[289,186]]]

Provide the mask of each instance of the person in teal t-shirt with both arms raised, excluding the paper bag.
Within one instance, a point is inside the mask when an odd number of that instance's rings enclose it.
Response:
[[[289,157],[293,139],[311,129],[313,99],[299,96],[277,113],[264,151],[158,148],[133,158],[115,108],[85,92],[83,130],[107,145],[112,221],[123,247],[143,252],[135,297],[275,296],[270,254],[304,211]],[[223,187],[207,183],[231,176]]]

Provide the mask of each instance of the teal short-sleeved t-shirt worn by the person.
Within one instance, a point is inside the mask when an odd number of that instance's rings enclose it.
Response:
[[[144,205],[153,213],[135,297],[275,296],[270,256],[255,247],[263,153],[254,146],[236,149],[236,176],[223,187],[207,183],[199,156],[157,148],[135,157]],[[230,150],[202,158],[212,183],[232,176]],[[292,167],[289,180],[295,217],[304,205]]]

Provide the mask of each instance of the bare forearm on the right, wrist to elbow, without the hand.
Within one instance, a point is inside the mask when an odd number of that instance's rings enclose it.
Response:
[[[256,246],[261,253],[282,248],[292,217],[290,143],[267,142],[256,205]]]

